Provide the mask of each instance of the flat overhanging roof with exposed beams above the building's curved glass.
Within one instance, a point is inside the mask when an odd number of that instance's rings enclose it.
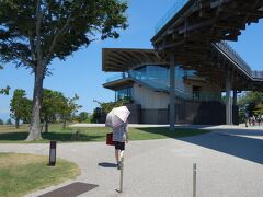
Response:
[[[144,65],[169,65],[153,49],[103,48],[102,70],[123,72]]]

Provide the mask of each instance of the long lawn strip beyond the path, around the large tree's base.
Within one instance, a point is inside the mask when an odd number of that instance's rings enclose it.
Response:
[[[24,143],[24,140],[28,135],[27,130],[28,126],[22,126],[20,129],[15,129],[14,126],[0,126],[0,142]],[[105,141],[105,135],[111,131],[111,129],[106,127],[76,127],[61,129],[61,125],[58,124],[50,125],[49,130],[49,132],[43,132],[43,139],[37,142],[49,142],[50,140],[57,140],[60,142]],[[77,131],[80,132],[79,136],[76,135]],[[209,131],[182,128],[175,129],[175,131],[170,131],[168,127],[129,128],[129,136],[132,140],[180,138],[206,132]]]

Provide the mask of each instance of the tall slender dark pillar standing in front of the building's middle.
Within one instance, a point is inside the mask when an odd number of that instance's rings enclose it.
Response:
[[[174,130],[175,124],[175,58],[170,58],[170,130]]]

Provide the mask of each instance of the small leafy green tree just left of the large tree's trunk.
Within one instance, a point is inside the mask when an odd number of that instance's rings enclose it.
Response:
[[[10,102],[10,116],[15,121],[15,128],[19,128],[20,120],[28,118],[31,112],[32,101],[25,97],[25,90],[15,89]]]

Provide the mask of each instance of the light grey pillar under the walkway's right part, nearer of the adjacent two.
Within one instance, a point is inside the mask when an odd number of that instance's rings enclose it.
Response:
[[[232,125],[231,89],[232,89],[231,73],[230,71],[228,71],[227,78],[226,78],[226,124],[227,125]]]

